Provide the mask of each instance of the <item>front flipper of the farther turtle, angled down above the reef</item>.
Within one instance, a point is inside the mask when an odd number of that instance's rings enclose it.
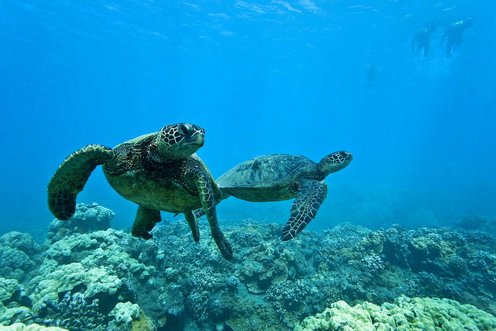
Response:
[[[327,195],[327,184],[317,180],[302,180],[300,192],[291,206],[291,216],[282,229],[282,241],[296,237],[317,215]]]

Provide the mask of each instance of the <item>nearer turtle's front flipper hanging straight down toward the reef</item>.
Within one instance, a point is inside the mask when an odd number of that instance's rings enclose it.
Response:
[[[210,180],[205,172],[198,169],[190,169],[188,175],[198,187],[198,194],[200,196],[201,206],[205,211],[208,224],[210,225],[212,237],[214,238],[217,247],[219,247],[222,256],[226,260],[231,261],[233,259],[233,249],[231,248],[231,244],[229,244],[226,237],[220,230],[219,223],[217,222],[215,198]]]

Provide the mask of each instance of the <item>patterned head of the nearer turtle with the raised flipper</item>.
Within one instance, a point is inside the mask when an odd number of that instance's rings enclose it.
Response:
[[[205,130],[191,123],[166,125],[157,132],[150,155],[156,162],[187,158],[203,146],[204,135]]]

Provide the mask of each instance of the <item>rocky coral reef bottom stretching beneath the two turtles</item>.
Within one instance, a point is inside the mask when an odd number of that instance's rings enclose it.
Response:
[[[228,262],[206,221],[195,243],[184,220],[145,241],[101,229],[97,204],[75,217],[43,243],[1,236],[0,330],[496,330],[483,231],[342,223],[282,242],[281,224],[223,221]]]

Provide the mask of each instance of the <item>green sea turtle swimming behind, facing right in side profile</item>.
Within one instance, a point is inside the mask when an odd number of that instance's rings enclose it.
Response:
[[[282,230],[282,240],[294,238],[317,215],[327,195],[322,180],[331,172],[349,165],[353,156],[346,151],[334,152],[311,161],[301,155],[262,155],[236,165],[217,178],[222,199],[234,196],[252,202],[294,199],[291,216]],[[196,216],[203,211],[195,211]]]

